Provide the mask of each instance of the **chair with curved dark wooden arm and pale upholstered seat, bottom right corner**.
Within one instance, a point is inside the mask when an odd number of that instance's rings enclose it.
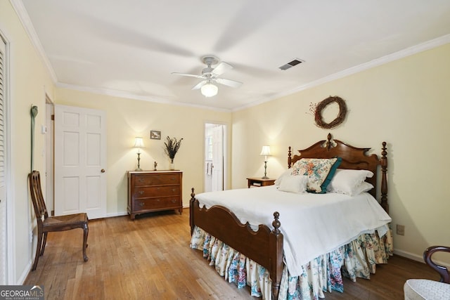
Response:
[[[450,252],[450,247],[432,246],[423,252],[423,260],[441,276],[439,281],[425,279],[409,279],[404,285],[405,300],[416,299],[449,299],[450,273],[449,270],[432,261],[435,252]]]

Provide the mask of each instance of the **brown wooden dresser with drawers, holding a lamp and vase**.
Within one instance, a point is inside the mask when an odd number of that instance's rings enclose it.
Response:
[[[128,171],[128,214],[178,209],[183,211],[183,172]]]

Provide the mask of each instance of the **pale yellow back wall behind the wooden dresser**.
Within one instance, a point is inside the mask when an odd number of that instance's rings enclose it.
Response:
[[[191,188],[203,191],[205,174],[204,131],[205,122],[221,122],[229,127],[231,141],[231,113],[180,105],[167,105],[142,100],[98,95],[70,89],[57,89],[55,104],[105,110],[107,115],[107,214],[127,213],[127,171],[136,169],[137,155],[134,137],[142,136],[145,148],[141,154],[141,169],[169,169],[169,159],[164,154],[166,136],[184,138],[176,154],[175,168],[183,171],[183,203],[189,205]],[[161,140],[150,140],[150,130],[161,131]],[[228,143],[229,145],[231,143]],[[231,146],[229,146],[229,151]],[[229,162],[229,167],[231,162]],[[228,182],[230,182],[230,178]]]

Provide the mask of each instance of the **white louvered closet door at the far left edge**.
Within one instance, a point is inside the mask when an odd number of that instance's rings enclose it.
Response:
[[[0,285],[6,285],[6,46],[0,36]]]

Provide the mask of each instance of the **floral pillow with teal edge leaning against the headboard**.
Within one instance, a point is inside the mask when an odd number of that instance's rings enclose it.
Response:
[[[302,158],[295,162],[291,174],[307,175],[307,191],[309,193],[324,194],[340,162],[342,162],[341,157],[323,159]]]

